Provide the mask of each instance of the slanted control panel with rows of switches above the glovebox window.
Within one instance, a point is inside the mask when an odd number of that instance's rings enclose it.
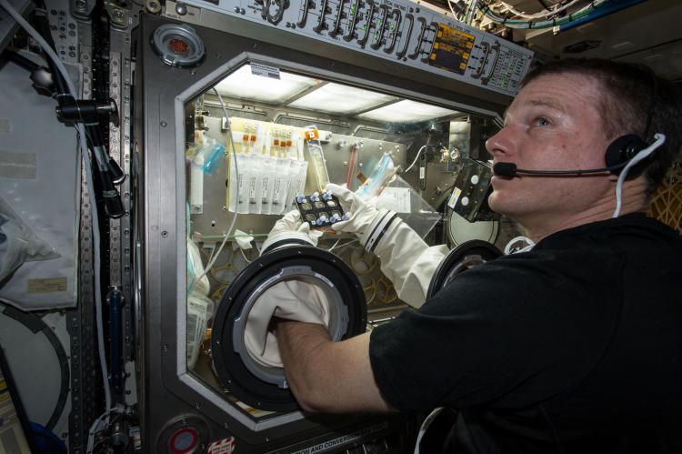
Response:
[[[202,10],[418,67],[514,96],[532,51],[407,0],[184,0],[165,15],[201,24]]]

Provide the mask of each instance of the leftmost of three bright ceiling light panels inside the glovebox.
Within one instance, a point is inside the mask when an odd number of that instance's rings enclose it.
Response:
[[[320,83],[312,77],[283,71],[280,71],[279,79],[257,76],[251,73],[251,65],[245,65],[218,82],[216,90],[225,96],[281,104],[306,88]]]

